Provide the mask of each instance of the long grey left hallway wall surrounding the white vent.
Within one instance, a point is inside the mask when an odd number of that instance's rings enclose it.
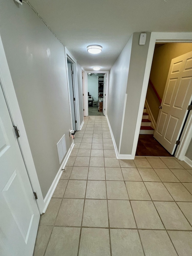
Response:
[[[56,143],[63,134],[67,151],[72,143],[64,47],[28,4],[0,6],[1,39],[45,197],[60,167]]]

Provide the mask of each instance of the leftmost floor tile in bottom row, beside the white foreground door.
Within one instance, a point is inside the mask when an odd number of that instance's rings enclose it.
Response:
[[[52,226],[39,226],[38,227],[33,256],[44,255],[47,244],[49,242],[49,237],[52,232],[52,228],[53,228]]]

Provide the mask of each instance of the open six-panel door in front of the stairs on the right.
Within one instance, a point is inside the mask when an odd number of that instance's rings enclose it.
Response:
[[[154,137],[173,154],[192,95],[192,52],[172,59]]]

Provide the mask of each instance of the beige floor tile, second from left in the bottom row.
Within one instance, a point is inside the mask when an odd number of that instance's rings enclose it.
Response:
[[[45,255],[77,255],[80,230],[80,227],[54,227]]]

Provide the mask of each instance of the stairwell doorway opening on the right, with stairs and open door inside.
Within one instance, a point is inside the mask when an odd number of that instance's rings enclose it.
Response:
[[[191,59],[192,43],[155,44],[137,156],[175,155],[190,115]]]

